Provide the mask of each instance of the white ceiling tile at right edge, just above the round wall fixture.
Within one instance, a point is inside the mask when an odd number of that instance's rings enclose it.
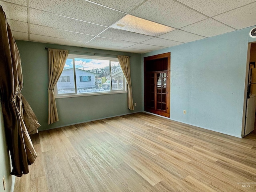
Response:
[[[236,29],[256,25],[256,2],[213,17]]]

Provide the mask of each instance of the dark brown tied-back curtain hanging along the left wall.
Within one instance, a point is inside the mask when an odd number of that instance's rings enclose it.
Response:
[[[8,150],[12,158],[11,174],[22,176],[36,159],[29,134],[38,132],[38,120],[21,94],[22,68],[18,47],[0,6],[0,96]]]

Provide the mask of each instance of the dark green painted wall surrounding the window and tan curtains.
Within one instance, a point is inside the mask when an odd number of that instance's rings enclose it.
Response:
[[[41,127],[47,130],[68,124],[91,121],[142,111],[141,54],[96,50],[56,44],[16,40],[22,62],[24,88],[22,94],[34,110]],[[130,55],[134,111],[127,108],[127,94],[107,94],[56,99],[59,121],[48,125],[48,52],[45,47],[103,54]]]

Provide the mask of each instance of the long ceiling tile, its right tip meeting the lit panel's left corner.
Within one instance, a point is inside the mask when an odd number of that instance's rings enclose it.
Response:
[[[104,26],[66,18],[31,8],[30,23],[89,35],[97,35],[106,29]]]

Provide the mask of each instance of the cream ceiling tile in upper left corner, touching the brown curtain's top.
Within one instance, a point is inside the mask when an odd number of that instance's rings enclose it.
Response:
[[[28,10],[24,6],[0,1],[1,6],[6,14],[6,18],[28,22]]]

